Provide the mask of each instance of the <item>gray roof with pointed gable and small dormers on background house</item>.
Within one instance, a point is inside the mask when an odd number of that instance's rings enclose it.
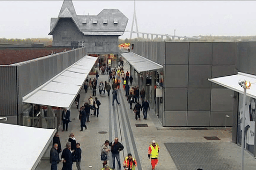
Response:
[[[53,34],[60,18],[71,18],[84,35],[122,35],[128,18],[118,9],[103,9],[97,15],[77,15],[72,0],[64,0],[58,18],[51,18]]]

